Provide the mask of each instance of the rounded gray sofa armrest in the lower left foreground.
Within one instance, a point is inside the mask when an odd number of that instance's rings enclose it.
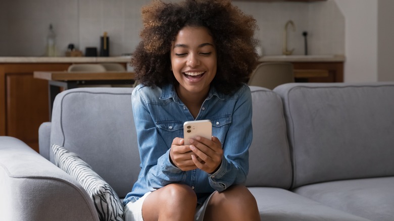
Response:
[[[67,173],[22,141],[0,136],[0,220],[98,220]]]

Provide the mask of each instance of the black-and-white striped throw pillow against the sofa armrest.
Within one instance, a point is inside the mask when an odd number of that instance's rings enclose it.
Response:
[[[56,165],[73,177],[89,194],[100,220],[124,220],[123,205],[111,186],[76,153],[53,144]]]

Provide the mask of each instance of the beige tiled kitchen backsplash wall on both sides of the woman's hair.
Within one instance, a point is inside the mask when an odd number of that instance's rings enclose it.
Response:
[[[171,1],[171,0],[168,0]],[[177,0],[172,0],[177,1]],[[110,37],[110,56],[131,53],[139,42],[142,27],[140,8],[151,0],[13,0],[0,1],[5,13],[0,22],[4,47],[0,56],[42,56],[45,36],[53,23],[59,55],[69,43],[84,51],[100,47],[100,36]],[[245,14],[253,15],[259,26],[256,37],[265,54],[281,54],[283,29],[288,20],[288,47],[293,54],[304,54],[303,31],[308,31],[310,54],[344,53],[344,18],[333,0],[316,3],[233,1]],[[1,9],[0,9],[1,11]],[[5,25],[7,24],[7,25]],[[1,46],[1,45],[0,45]]]

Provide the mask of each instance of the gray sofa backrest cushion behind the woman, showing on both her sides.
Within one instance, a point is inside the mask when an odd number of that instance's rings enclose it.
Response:
[[[282,101],[273,91],[251,87],[253,142],[248,186],[288,189],[291,163]],[[78,154],[123,198],[137,180],[139,152],[131,107],[132,88],[63,91],[52,113],[51,145]],[[54,162],[53,153],[50,159]]]

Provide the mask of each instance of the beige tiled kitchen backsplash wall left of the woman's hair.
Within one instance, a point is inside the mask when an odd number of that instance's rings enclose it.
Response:
[[[100,36],[110,37],[110,56],[130,53],[139,42],[140,8],[151,0],[13,0],[0,1],[3,41],[0,56],[43,56],[52,23],[59,56],[69,43],[84,51],[100,49]],[[1,11],[1,10],[0,10]],[[1,14],[1,13],[0,13]]]

